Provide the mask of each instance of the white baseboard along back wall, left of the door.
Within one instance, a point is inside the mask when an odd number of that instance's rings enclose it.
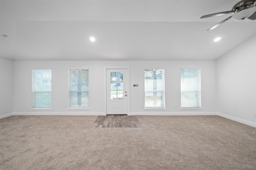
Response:
[[[104,115],[104,112],[14,112],[13,115]]]

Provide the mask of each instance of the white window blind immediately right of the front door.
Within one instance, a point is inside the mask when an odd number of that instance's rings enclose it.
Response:
[[[164,108],[164,69],[145,69],[145,108]]]

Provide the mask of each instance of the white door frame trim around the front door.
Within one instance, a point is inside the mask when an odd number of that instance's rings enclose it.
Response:
[[[105,66],[104,67],[104,115],[107,115],[107,69],[127,69],[127,77],[126,77],[126,83],[127,83],[127,115],[130,115],[130,67],[129,66]]]

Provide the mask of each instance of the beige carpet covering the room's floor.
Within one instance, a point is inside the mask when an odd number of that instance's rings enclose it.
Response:
[[[138,128],[94,128],[98,116],[0,120],[1,170],[256,170],[256,128],[219,116],[136,116]]]

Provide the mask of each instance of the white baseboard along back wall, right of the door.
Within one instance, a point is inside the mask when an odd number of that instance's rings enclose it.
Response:
[[[216,115],[216,112],[130,112],[130,115]]]

